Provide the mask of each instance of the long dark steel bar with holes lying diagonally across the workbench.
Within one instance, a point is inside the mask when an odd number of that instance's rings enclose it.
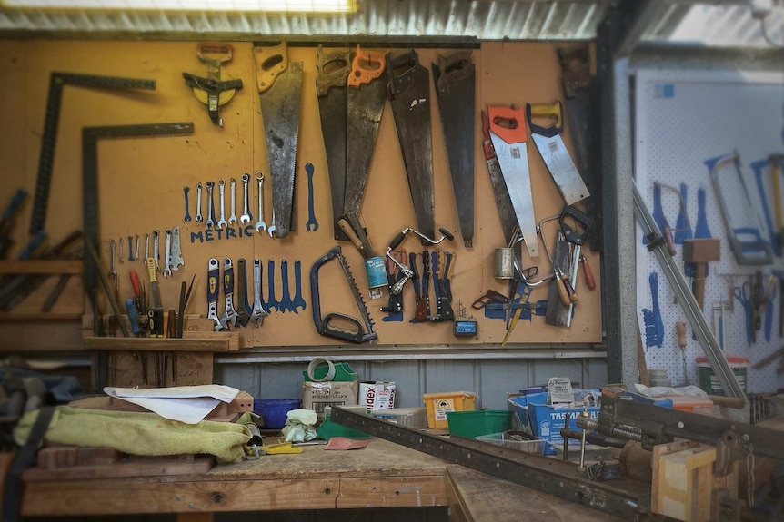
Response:
[[[330,419],[341,426],[628,520],[649,511],[650,485],[637,480],[592,481],[574,463],[469,438],[429,435],[339,407],[332,409]]]

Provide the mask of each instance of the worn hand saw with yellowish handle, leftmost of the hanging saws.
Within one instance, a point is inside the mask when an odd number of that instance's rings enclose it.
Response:
[[[255,46],[256,87],[264,120],[266,154],[272,178],[275,237],[296,229],[294,202],[297,135],[302,97],[302,62],[289,62],[286,42]]]

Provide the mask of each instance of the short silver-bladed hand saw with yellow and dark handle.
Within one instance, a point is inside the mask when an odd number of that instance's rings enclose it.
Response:
[[[539,155],[548,166],[548,171],[556,182],[558,192],[561,193],[567,206],[586,199],[590,192],[578,168],[572,161],[561,133],[564,132],[563,107],[560,102],[526,105],[526,118],[531,129],[531,139],[537,145]],[[533,122],[534,118],[553,119],[549,127],[543,127]]]

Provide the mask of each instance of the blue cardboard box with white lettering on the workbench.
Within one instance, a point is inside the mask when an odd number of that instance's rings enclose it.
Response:
[[[538,438],[544,438],[548,444],[545,448],[545,455],[555,455],[555,449],[550,446],[550,442],[563,444],[564,438],[561,437],[561,428],[566,424],[566,414],[571,414],[569,428],[579,430],[577,416],[582,413],[582,406],[578,408],[554,408],[547,404],[547,393],[533,393],[531,395],[510,397],[507,407],[512,411],[512,428],[521,429]],[[592,419],[598,416],[598,406],[589,406],[588,415]],[[569,448],[572,444],[578,445],[579,440],[569,439]]]

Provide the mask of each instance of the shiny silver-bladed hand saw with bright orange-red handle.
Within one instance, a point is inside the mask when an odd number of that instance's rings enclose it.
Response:
[[[538,257],[537,222],[531,197],[523,110],[519,107],[491,105],[487,108],[487,113],[490,119],[490,139],[498,156],[509,199],[515,209],[520,233],[526,242],[528,255],[532,258]]]

